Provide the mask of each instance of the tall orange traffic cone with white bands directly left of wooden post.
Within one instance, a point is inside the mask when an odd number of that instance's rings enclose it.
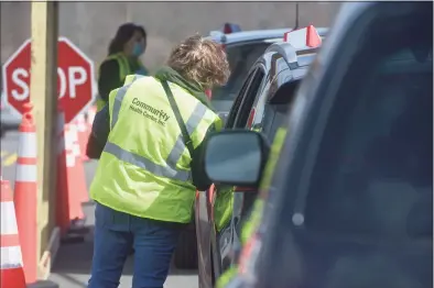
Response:
[[[28,111],[23,114],[19,128],[14,202],[25,279],[31,284],[35,283],[37,277],[36,126],[31,113],[32,104],[26,106]]]

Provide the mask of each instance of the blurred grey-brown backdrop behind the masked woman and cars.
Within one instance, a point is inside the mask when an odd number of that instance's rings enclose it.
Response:
[[[339,2],[300,2],[300,25],[329,26]],[[0,2],[1,63],[31,36],[31,3]],[[96,65],[107,54],[117,27],[124,22],[148,31],[145,66],[161,65],[171,47],[196,32],[207,35],[224,22],[242,30],[292,27],[295,2],[61,2],[59,35],[68,37]]]

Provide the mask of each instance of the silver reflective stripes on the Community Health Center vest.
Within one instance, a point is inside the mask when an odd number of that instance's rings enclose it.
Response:
[[[122,104],[122,100],[128,91],[128,89],[131,87],[134,80],[141,78],[143,76],[140,75],[134,75],[133,79],[131,80],[130,84],[121,87],[113,100],[113,108],[112,108],[112,115],[111,115],[111,129],[115,128],[118,118],[119,118],[119,112],[120,108]],[[127,82],[128,80],[126,80]],[[205,113],[207,111],[207,108],[198,102],[193,110],[192,115],[188,118],[188,120],[185,122],[185,126],[187,129],[188,135],[192,136],[193,132],[196,130],[196,128],[199,125],[200,121],[203,120]],[[176,163],[180,160],[182,154],[184,153],[186,148],[184,137],[182,133],[176,139],[175,145],[173,146],[172,151],[169,153],[166,164],[167,166],[161,166],[159,164],[155,164],[145,157],[142,157],[140,155],[137,155],[134,153],[128,152],[118,145],[107,142],[106,146],[104,147],[104,151],[113,155],[120,160],[123,160],[126,163],[129,163],[131,165],[141,167],[143,169],[147,169],[148,171],[154,174],[155,176],[161,176],[161,177],[166,177],[171,178],[174,180],[181,180],[181,181],[188,181],[191,179],[191,171],[189,170],[184,170],[184,169],[178,169],[176,167]],[[191,155],[193,156],[193,155]]]

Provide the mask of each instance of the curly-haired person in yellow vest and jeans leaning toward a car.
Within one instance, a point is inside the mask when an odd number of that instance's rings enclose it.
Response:
[[[132,247],[132,287],[163,287],[196,190],[210,186],[202,147],[221,120],[205,90],[228,77],[224,49],[195,35],[155,76],[129,75],[109,93],[94,123],[102,121],[109,132],[89,189],[96,210],[88,288],[118,287]]]

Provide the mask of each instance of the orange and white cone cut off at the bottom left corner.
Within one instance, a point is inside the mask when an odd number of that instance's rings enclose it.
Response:
[[[1,263],[0,287],[25,288],[20,237],[17,226],[15,208],[9,181],[1,179]]]

